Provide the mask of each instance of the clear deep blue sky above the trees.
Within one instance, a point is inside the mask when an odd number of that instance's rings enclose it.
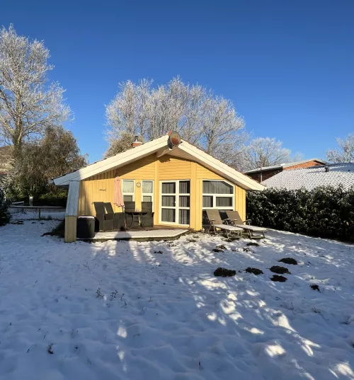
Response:
[[[0,25],[44,40],[90,161],[118,83],[173,76],[229,98],[253,137],[324,157],[354,132],[354,1],[4,1]]]

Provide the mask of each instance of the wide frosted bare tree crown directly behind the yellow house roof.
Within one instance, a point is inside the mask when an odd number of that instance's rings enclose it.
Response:
[[[157,87],[147,79],[120,84],[105,116],[108,154],[118,153],[129,134],[149,141],[176,130],[187,141],[236,166],[247,139],[244,120],[229,100],[198,84],[184,84],[180,78]]]

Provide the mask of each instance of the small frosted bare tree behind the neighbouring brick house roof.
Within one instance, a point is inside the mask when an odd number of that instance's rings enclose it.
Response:
[[[282,142],[270,137],[253,139],[245,150],[244,160],[244,170],[292,161],[290,150],[283,148]]]

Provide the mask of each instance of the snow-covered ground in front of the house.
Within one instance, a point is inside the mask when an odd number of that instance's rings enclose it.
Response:
[[[354,379],[354,246],[40,236],[56,223],[0,227],[0,379]],[[299,265],[270,281],[285,257]]]

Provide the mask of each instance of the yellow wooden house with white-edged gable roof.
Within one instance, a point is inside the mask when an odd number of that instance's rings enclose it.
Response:
[[[176,132],[175,132],[176,134]],[[139,145],[138,145],[139,144]],[[53,179],[69,188],[65,241],[76,240],[76,219],[95,215],[93,202],[111,202],[113,181],[119,176],[125,201],[153,202],[154,225],[202,229],[202,210],[236,209],[246,219],[246,190],[264,186],[247,175],[168,134]],[[115,212],[120,207],[113,205]]]

